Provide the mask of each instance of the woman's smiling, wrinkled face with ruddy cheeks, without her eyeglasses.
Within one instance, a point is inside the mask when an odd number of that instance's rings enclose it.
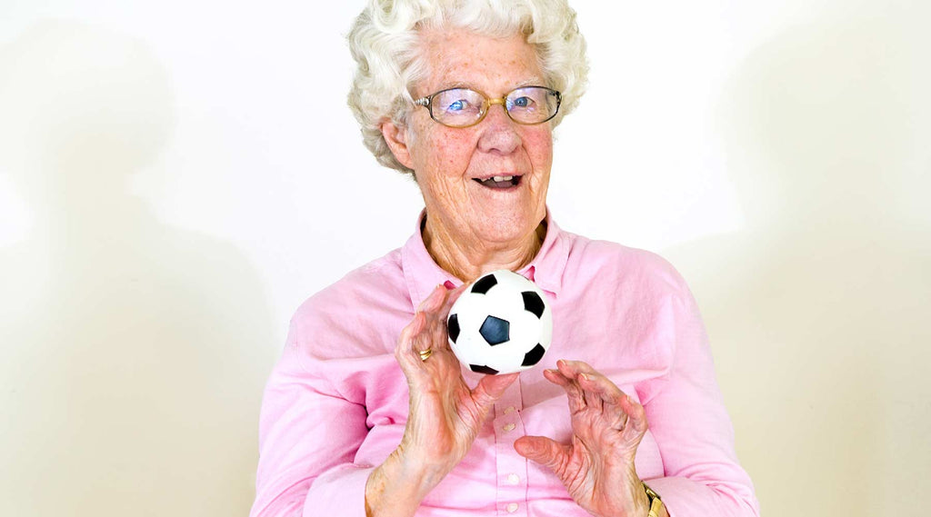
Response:
[[[520,36],[493,39],[452,30],[422,37],[429,73],[415,87],[414,99],[455,86],[491,99],[519,86],[547,86],[536,52]],[[439,224],[449,238],[460,245],[506,247],[526,239],[545,218],[553,156],[549,122],[519,125],[501,105],[492,105],[470,127],[443,126],[420,107],[409,120],[398,132],[406,160],[398,159],[414,170],[429,223]],[[493,177],[517,181],[495,185],[487,181]]]

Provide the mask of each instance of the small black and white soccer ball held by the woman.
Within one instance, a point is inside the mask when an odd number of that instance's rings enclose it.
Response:
[[[469,285],[446,325],[460,363],[473,372],[509,374],[543,358],[553,337],[553,312],[533,282],[501,270]]]

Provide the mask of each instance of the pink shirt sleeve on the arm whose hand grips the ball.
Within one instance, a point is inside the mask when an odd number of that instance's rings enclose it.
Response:
[[[265,387],[250,517],[365,517],[365,485],[373,468],[353,463],[368,433],[365,406],[309,371],[302,364],[300,342],[292,321]]]

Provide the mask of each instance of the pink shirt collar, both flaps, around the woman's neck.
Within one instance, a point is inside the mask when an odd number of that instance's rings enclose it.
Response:
[[[404,268],[404,280],[407,282],[411,294],[413,307],[419,307],[437,285],[459,286],[463,282],[444,271],[430,257],[424,245],[421,234],[426,211],[422,211],[417,218],[417,225],[407,244],[401,248],[401,267]],[[569,259],[569,235],[562,232],[546,210],[546,237],[540,251],[529,264],[521,268],[518,273],[533,280],[550,296],[559,296],[562,287],[562,272]]]

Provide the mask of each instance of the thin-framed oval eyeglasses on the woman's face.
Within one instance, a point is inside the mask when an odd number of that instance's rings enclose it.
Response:
[[[518,124],[543,124],[560,111],[560,92],[544,86],[517,88],[501,99],[489,99],[468,88],[450,88],[414,100],[430,111],[430,118],[443,126],[475,126],[485,118],[492,104],[501,104],[507,116]]]

